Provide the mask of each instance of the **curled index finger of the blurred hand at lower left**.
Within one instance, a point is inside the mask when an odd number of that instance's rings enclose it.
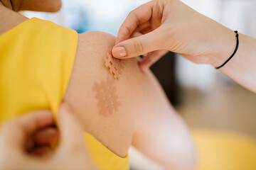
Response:
[[[53,123],[53,113],[50,111],[34,111],[7,122],[2,127],[1,137],[6,145],[24,149],[29,135]]]

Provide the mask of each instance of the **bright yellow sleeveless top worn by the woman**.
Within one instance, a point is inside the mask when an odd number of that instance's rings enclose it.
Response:
[[[73,69],[78,34],[31,18],[0,35],[0,123],[38,109],[57,113]],[[85,135],[100,169],[129,169],[121,158]]]

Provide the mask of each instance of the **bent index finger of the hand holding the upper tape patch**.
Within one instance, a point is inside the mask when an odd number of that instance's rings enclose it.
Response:
[[[145,23],[146,21],[149,21],[151,19],[151,8],[152,1],[149,1],[129,13],[127,18],[124,20],[124,23],[122,23],[122,26],[119,28],[116,44],[129,39],[130,35],[132,35],[134,30],[140,24]]]

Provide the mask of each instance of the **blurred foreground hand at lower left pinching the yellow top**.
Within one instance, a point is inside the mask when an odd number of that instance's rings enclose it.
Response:
[[[28,139],[31,139],[35,133],[38,134],[38,130],[40,132],[53,125],[53,115],[50,111],[28,113],[2,125],[0,169],[95,169],[85,148],[80,123],[66,103],[60,106],[59,112],[60,144],[55,151],[50,150],[46,145],[37,148],[37,151],[35,149],[28,152],[27,145]],[[43,137],[41,134],[39,133],[39,138]],[[48,133],[43,132],[43,134]],[[38,152],[51,154],[43,158],[31,154]]]

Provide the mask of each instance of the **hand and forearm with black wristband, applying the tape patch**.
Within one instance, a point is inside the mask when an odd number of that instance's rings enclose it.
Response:
[[[141,29],[142,21],[150,23],[147,31]],[[142,36],[130,38],[134,31]],[[238,52],[220,71],[256,93],[256,39],[239,33],[239,40]],[[112,50],[117,58],[169,50],[191,62],[219,67],[234,52],[236,38],[233,30],[203,16],[181,1],[161,0],[150,1],[132,11],[119,29],[117,42]],[[119,51],[120,47],[125,52]],[[140,67],[149,67],[160,57],[146,56]]]

